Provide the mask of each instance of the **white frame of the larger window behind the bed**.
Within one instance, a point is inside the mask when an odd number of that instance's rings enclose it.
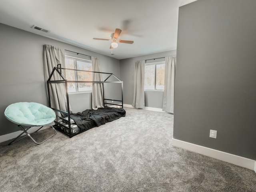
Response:
[[[78,57],[74,57],[74,56],[70,56],[70,55],[65,55],[65,60],[67,59],[73,59],[74,60],[74,75],[75,75],[75,81],[78,80],[78,71],[76,71],[78,69],[78,64],[76,61],[80,61],[80,62],[86,62],[86,63],[89,63],[91,64],[92,66],[92,60],[89,60],[89,59],[84,59],[84,58],[78,58]],[[68,69],[68,68],[67,68]],[[70,68],[71,69],[71,68]],[[91,86],[91,89],[90,90],[87,90],[87,91],[79,91],[79,88],[78,88],[78,84],[79,83],[74,83],[75,84],[75,89],[76,91],[75,92],[70,92],[68,90],[68,94],[80,94],[80,93],[91,93],[92,92],[92,86]]]

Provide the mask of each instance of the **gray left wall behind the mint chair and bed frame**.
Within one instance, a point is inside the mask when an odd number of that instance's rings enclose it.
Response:
[[[66,50],[97,57],[102,72],[120,78],[119,60],[84,50],[63,42],[0,24],[0,135],[18,131],[18,126],[4,117],[5,108],[15,102],[38,102],[48,105],[43,70],[43,45],[50,44]],[[110,88],[110,97],[121,95],[120,88]],[[108,92],[106,90],[106,92]],[[73,110],[91,107],[91,94],[70,96]],[[82,100],[84,98],[84,100]],[[83,108],[84,106],[84,108]]]

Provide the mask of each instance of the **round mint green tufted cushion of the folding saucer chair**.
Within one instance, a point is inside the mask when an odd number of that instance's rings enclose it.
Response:
[[[54,110],[35,102],[10,104],[4,115],[11,122],[25,126],[44,126],[56,119]]]

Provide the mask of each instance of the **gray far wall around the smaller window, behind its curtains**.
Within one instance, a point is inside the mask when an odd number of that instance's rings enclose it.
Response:
[[[176,50],[166,51],[156,54],[149,54],[120,60],[120,75],[124,82],[124,104],[132,104],[133,99],[133,77],[135,62],[139,60],[154,59],[176,54]],[[152,60],[153,61],[153,60]],[[146,91],[145,106],[153,108],[162,108],[163,92],[161,91]]]

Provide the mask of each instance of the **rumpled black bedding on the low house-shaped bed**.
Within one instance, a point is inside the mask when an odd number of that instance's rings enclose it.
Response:
[[[124,117],[125,114],[126,112],[123,108],[105,106],[97,110],[87,109],[83,112],[70,114],[70,118],[75,121],[80,131],[84,131],[117,120],[120,117]]]

